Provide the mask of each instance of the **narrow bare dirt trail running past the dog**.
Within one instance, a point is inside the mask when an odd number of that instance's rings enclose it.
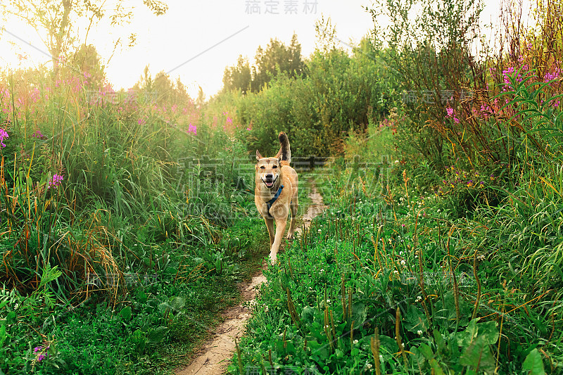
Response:
[[[303,229],[310,227],[311,221],[320,215],[327,207],[322,201],[322,196],[317,191],[314,182],[310,181],[309,198],[311,204],[303,215],[303,224],[296,228],[301,234]],[[265,266],[262,266],[265,267]],[[234,352],[234,339],[240,338],[244,333],[244,325],[251,317],[251,309],[256,297],[256,290],[260,284],[265,283],[266,278],[262,270],[246,283],[241,284],[242,301],[239,305],[230,307],[222,316],[224,322],[215,328],[213,338],[203,345],[198,355],[192,360],[188,367],[176,371],[177,375],[220,375],[224,374]]]

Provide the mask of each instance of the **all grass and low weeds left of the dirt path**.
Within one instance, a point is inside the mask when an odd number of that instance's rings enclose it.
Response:
[[[242,130],[18,74],[0,82],[0,372],[170,373],[267,254]]]

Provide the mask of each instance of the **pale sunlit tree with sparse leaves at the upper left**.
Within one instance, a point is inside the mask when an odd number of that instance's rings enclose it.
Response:
[[[91,26],[103,18],[109,18],[110,25],[128,23],[133,17],[132,0],[116,0],[113,6],[106,0],[3,0],[0,9],[4,15],[13,15],[32,26],[51,54],[55,76],[58,65],[65,58],[70,47],[77,42],[77,20],[85,18],[89,21],[83,44],[86,44]],[[138,0],[135,0],[137,2]],[[155,15],[167,11],[167,5],[159,0],[143,0]],[[129,37],[134,42],[134,35]],[[115,48],[120,44],[115,42]]]

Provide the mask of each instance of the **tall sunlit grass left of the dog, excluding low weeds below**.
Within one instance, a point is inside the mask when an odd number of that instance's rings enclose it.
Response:
[[[244,155],[191,101],[88,80],[68,68],[56,81],[18,70],[0,82],[9,136],[0,148],[0,279],[31,293],[44,269],[58,267],[62,277],[47,287],[72,303],[94,291],[115,298],[148,243],[213,243],[214,227],[232,220],[239,177],[202,171],[198,159]],[[210,181],[219,194],[200,186]]]

